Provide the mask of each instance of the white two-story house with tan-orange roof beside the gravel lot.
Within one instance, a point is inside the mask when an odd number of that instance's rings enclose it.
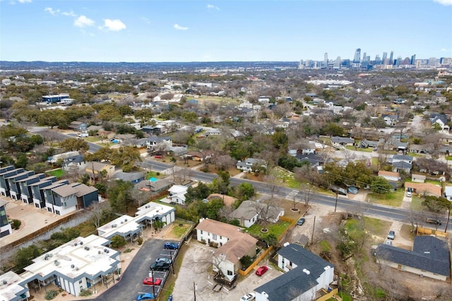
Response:
[[[229,281],[237,277],[237,271],[242,268],[240,259],[243,256],[256,255],[258,240],[243,230],[209,218],[201,218],[196,226],[196,239],[199,242],[218,246],[213,254],[213,271],[221,273]]]

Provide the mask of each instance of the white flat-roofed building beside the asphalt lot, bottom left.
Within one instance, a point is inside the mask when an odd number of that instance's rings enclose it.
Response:
[[[82,290],[105,281],[114,283],[115,273],[121,268],[119,251],[110,249],[109,240],[97,235],[77,237],[75,240],[52,249],[32,259],[20,276],[26,283],[37,281],[38,288],[46,288],[53,283],[67,293],[78,297]]]

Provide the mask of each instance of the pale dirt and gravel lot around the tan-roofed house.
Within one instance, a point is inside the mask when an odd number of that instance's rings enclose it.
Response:
[[[174,285],[174,300],[190,301],[222,301],[222,300],[240,300],[240,297],[246,293],[252,292],[254,288],[267,283],[280,276],[282,273],[276,271],[268,261],[261,261],[258,266],[268,266],[268,271],[263,276],[256,276],[255,273],[249,273],[246,277],[237,278],[236,288],[224,286],[218,293],[213,291],[215,281],[213,281],[212,254],[215,248],[200,242],[191,240],[189,249],[184,255],[182,266]],[[196,290],[196,291],[194,291]]]

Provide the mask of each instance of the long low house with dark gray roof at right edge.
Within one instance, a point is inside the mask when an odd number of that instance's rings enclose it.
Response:
[[[383,265],[421,277],[447,281],[451,275],[448,243],[431,235],[415,236],[411,251],[379,244],[376,258]]]

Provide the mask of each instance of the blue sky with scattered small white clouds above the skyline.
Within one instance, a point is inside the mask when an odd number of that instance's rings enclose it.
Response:
[[[4,61],[452,57],[452,0],[0,0]]]

